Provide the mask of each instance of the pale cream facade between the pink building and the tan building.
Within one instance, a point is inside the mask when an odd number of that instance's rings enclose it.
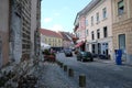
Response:
[[[113,57],[111,0],[94,0],[86,7],[86,51]]]

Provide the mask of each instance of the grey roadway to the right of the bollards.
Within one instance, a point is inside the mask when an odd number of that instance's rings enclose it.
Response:
[[[77,77],[86,75],[86,88],[132,88],[132,67],[128,65],[116,65],[111,61],[77,62],[76,56],[65,57],[58,54],[57,59],[72,67]]]

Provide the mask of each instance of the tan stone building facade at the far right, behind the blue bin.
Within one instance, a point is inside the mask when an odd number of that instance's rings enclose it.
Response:
[[[132,0],[112,0],[113,51],[122,50],[122,59],[132,65]]]

